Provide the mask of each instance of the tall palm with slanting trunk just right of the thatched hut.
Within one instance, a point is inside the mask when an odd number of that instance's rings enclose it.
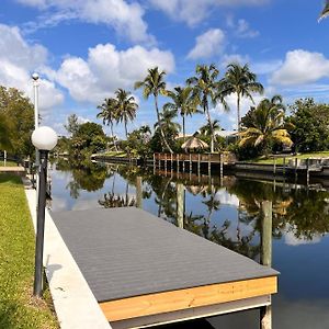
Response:
[[[214,151],[214,131],[212,128],[212,117],[209,113],[209,103],[213,105],[216,104],[216,90],[218,88],[218,69],[214,64],[207,65],[197,65],[195,68],[195,77],[189,78],[186,83],[193,87],[193,94],[198,99],[198,102],[203,109],[203,112],[206,116],[206,120],[209,124],[212,131],[212,141],[211,141],[211,151]],[[222,99],[224,101],[224,99]],[[224,102],[225,109],[227,104]]]

